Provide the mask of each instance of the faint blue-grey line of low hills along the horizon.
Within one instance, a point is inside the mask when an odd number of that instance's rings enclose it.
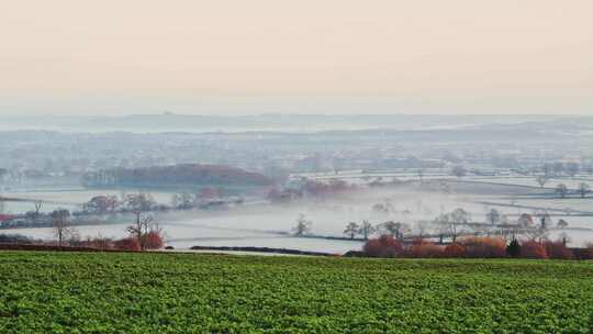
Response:
[[[276,114],[220,116],[131,114],[124,116],[0,116],[0,130],[243,132],[325,130],[433,130],[489,124],[563,124],[593,127],[593,118],[558,115],[429,115],[429,114]]]

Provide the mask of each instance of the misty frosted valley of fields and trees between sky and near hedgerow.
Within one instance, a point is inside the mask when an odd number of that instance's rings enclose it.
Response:
[[[142,214],[181,249],[343,254],[361,248],[367,235],[345,229],[363,222],[369,236],[395,222],[409,240],[446,242],[438,219],[456,209],[468,214],[460,236],[506,235],[528,214],[547,222],[546,238],[593,240],[586,116],[167,113],[48,118],[43,130],[5,119],[4,234],[52,242],[49,216],[66,209],[77,238],[123,238],[142,196]],[[300,221],[306,231],[295,231]]]

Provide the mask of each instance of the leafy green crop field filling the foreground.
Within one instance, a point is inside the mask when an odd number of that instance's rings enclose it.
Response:
[[[0,333],[589,333],[593,263],[0,252]]]

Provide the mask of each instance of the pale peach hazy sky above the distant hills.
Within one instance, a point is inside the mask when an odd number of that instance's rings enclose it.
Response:
[[[0,114],[593,114],[591,13],[591,0],[0,0]]]

